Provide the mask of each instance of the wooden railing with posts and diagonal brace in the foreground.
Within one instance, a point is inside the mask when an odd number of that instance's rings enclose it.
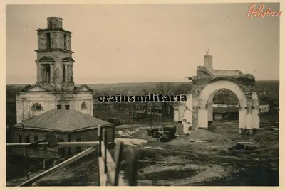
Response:
[[[50,135],[51,136],[51,135]],[[53,173],[59,168],[63,168],[66,165],[69,165],[84,156],[98,151],[98,186],[107,186],[107,180],[111,183],[111,186],[136,186],[137,185],[137,176],[138,176],[138,150],[133,146],[125,146],[121,141],[116,143],[115,147],[115,161],[110,155],[108,150],[108,131],[104,129],[103,126],[98,126],[98,138],[99,141],[90,141],[90,142],[63,142],[63,143],[43,143],[38,141],[36,143],[6,143],[6,147],[45,147],[45,146],[67,146],[67,147],[78,147],[78,146],[90,146],[85,151],[74,155],[67,160],[64,160],[62,163],[50,168],[43,173],[36,175],[35,177],[26,180],[25,182],[18,185],[19,187],[31,186],[34,182],[40,180],[46,175]],[[46,140],[48,141],[48,140]],[[121,162],[123,160],[124,148],[126,151],[126,169],[125,177],[127,181],[123,180],[122,175],[120,175]]]

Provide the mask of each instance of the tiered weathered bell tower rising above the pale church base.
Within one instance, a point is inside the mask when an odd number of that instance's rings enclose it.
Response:
[[[36,84],[65,92],[74,90],[71,32],[63,29],[63,20],[47,18],[47,28],[38,29]]]

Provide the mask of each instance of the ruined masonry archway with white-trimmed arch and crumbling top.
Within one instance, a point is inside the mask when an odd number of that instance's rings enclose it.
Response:
[[[197,67],[197,75],[188,78],[193,87],[187,102],[174,107],[177,133],[191,133],[195,129],[208,129],[213,121],[213,98],[219,89],[229,89],[239,99],[239,133],[257,133],[259,129],[259,100],[255,78],[239,70],[214,70],[212,55],[204,56],[204,66]]]

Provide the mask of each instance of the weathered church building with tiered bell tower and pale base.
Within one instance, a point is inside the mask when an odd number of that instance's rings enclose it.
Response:
[[[36,84],[16,95],[17,123],[55,109],[58,104],[93,116],[93,91],[73,81],[71,32],[63,29],[62,18],[48,17],[47,28],[38,33]]]

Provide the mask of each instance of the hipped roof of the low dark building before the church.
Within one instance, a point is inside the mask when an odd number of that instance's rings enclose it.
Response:
[[[39,116],[16,124],[14,127],[22,127],[22,125],[28,129],[60,132],[83,131],[91,127],[98,127],[99,125],[113,126],[113,124],[108,121],[103,121],[88,114],[65,108],[47,111]]]

